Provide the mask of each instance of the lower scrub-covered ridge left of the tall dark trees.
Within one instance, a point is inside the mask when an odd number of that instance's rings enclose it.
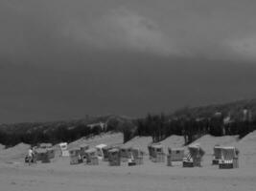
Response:
[[[114,115],[52,122],[24,122],[0,125],[0,143],[12,146],[19,142],[71,142],[103,132],[122,132],[125,123],[132,124],[129,117]]]

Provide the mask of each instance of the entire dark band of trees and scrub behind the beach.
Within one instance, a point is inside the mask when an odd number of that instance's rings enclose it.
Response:
[[[210,134],[239,135],[256,130],[256,100],[222,105],[182,108],[172,115],[148,115],[145,118],[105,116],[80,120],[0,125],[0,143],[12,146],[19,142],[71,142],[104,132],[123,132],[124,142],[135,136],[151,136],[154,142],[172,135],[183,136],[186,144]]]

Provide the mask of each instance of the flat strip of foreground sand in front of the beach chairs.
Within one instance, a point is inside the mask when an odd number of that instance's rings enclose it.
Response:
[[[24,166],[0,163],[1,190],[12,191],[255,191],[255,169],[167,167],[162,163],[119,167]]]

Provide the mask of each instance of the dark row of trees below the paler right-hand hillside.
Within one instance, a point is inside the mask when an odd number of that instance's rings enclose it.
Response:
[[[228,119],[228,120],[227,120]],[[233,118],[223,115],[212,117],[168,117],[148,115],[136,120],[136,136],[150,136],[153,142],[158,142],[173,135],[183,136],[185,144],[189,144],[203,135],[215,137],[239,135],[243,138],[256,130],[256,118]]]

